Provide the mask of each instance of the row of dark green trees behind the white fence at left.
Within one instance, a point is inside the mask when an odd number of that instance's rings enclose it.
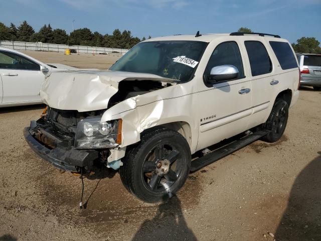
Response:
[[[88,28],[75,29],[68,35],[63,29],[52,29],[50,24],[45,24],[39,32],[35,32],[33,27],[24,21],[18,27],[13,23],[8,27],[0,22],[0,40],[130,49],[144,41],[145,37],[139,39],[133,37],[130,31],[121,32],[119,29],[115,29],[112,35],[102,35],[98,32],[92,33]]]

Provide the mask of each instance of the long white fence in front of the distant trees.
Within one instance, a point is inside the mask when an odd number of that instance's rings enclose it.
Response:
[[[102,54],[102,53],[126,53],[128,49],[113,49],[103,47],[90,46],[68,46],[64,44],[45,44],[41,42],[18,42],[18,41],[0,41],[0,47],[6,47],[16,50],[33,50],[33,51],[48,51],[48,52],[65,52],[65,49],[75,49],[77,53],[85,54]]]

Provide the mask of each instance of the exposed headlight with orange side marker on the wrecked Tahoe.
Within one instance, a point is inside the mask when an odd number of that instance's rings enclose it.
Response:
[[[100,123],[100,118],[85,118],[77,125],[75,148],[113,148],[121,142],[121,119]]]

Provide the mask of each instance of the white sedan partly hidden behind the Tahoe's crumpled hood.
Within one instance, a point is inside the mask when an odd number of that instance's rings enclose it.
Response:
[[[74,70],[44,64],[19,51],[0,47],[0,107],[40,104],[40,88],[48,72]]]

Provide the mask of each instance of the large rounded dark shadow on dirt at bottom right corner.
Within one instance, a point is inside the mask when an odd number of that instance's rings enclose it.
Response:
[[[297,176],[276,240],[321,240],[321,152]]]

